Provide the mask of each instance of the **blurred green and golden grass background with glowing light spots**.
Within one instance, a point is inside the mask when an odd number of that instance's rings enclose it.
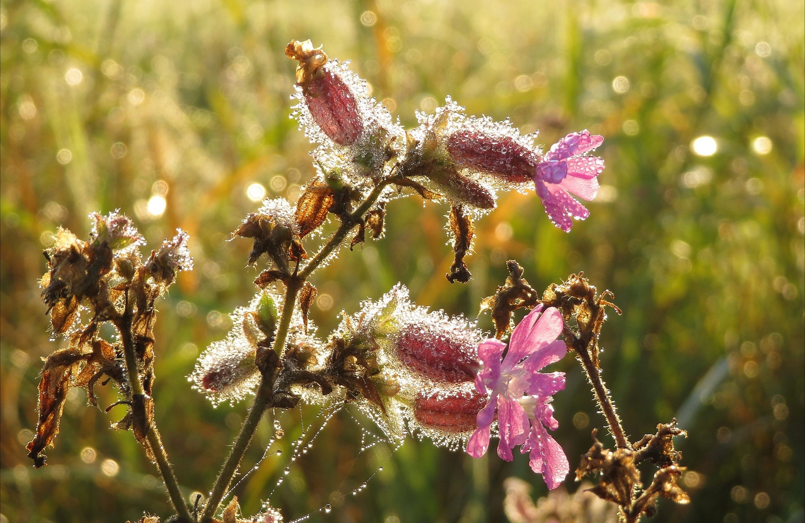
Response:
[[[192,235],[196,270],[160,306],[156,415],[188,494],[212,484],[246,403],[213,409],[185,376],[253,294],[250,246],[225,242],[257,207],[250,196],[262,186],[293,200],[312,175],[311,146],[287,117],[294,64],[283,56],[307,38],[353,60],[407,125],[451,95],[539,129],[547,146],[585,127],[603,134],[607,165],[592,216],[570,234],[536,196],[502,196],[477,224],[465,286],[444,278],[448,209],[395,201],[386,238],[316,275],[321,334],[398,281],[420,304],[474,317],[507,258],[539,288],[583,270],[624,310],[605,326],[603,367],[626,430],[639,438],[676,415],[690,432],[678,445],[696,471],[683,480],[692,502],[662,504],[654,520],[803,521],[802,2],[2,0],[0,28],[2,523],[167,513],[155,467],[108,428],[120,410],[71,393],[49,466],[34,471],[23,450],[39,357],[59,346],[39,302],[41,250],[59,224],[87,233],[95,209],[136,217],[152,244],[175,227]],[[694,154],[700,136],[715,154]],[[568,387],[555,437],[575,466],[604,421],[574,360],[558,368]],[[305,424],[315,416],[304,410]],[[279,419],[287,446],[299,415]],[[360,436],[342,413],[295,463],[271,498],[286,521],[385,459],[381,443],[356,461]],[[266,459],[237,488],[246,513],[286,465]],[[524,456],[473,460],[409,441],[364,492],[312,521],[506,521],[510,476],[546,494]]]

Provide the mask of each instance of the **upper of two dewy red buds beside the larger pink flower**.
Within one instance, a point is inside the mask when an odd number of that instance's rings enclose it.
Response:
[[[435,317],[428,317],[428,316]],[[425,321],[411,321],[400,329],[394,350],[399,360],[431,381],[473,381],[481,364],[473,329],[435,313]],[[467,325],[466,327],[469,327]]]

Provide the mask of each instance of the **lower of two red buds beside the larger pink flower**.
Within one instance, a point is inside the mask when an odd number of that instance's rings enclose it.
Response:
[[[414,402],[414,419],[424,429],[447,434],[469,433],[488,397],[475,389],[422,391]]]

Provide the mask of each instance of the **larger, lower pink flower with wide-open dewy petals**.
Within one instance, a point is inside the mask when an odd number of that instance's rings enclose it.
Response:
[[[479,458],[485,454],[497,412],[497,455],[511,461],[511,450],[522,445],[523,454],[530,452],[531,469],[542,474],[551,489],[570,472],[562,447],[545,430],[545,426],[551,430],[559,426],[550,404],[551,395],[564,389],[564,373],[538,371],[568,352],[564,341],[556,339],[562,327],[559,311],[550,307],[543,312],[540,304],[514,327],[505,358],[502,341],[481,342],[478,356],[484,368],[475,378],[475,387],[479,393],[491,394],[477,415],[478,428],[467,445],[469,455]]]

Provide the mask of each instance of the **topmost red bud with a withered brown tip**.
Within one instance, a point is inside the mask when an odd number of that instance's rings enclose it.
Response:
[[[328,67],[327,55],[310,40],[291,40],[285,55],[298,60],[296,85],[320,130],[340,146],[352,145],[361,135],[363,121],[355,94],[336,71]]]

